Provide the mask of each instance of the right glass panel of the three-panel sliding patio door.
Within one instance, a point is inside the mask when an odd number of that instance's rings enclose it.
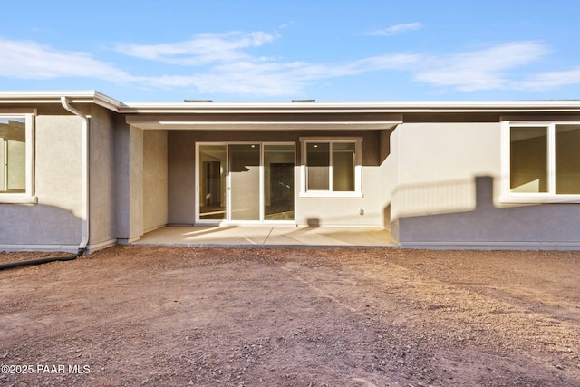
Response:
[[[264,220],[294,220],[293,144],[264,145]]]

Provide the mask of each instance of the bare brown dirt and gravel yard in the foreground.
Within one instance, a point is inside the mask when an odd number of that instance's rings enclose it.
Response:
[[[0,328],[8,386],[578,386],[580,253],[112,247],[0,271]]]

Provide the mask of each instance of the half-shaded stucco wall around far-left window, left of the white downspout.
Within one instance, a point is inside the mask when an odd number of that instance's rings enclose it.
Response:
[[[35,119],[37,204],[0,204],[0,245],[76,251],[82,239],[82,120]]]

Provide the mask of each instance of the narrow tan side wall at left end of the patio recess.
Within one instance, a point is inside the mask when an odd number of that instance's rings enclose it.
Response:
[[[143,131],[143,230],[168,223],[167,131]]]

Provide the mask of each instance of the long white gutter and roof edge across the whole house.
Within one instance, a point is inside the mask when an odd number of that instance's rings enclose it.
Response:
[[[580,100],[376,102],[120,102],[97,91],[0,92],[2,103],[96,103],[121,113],[580,112]]]

